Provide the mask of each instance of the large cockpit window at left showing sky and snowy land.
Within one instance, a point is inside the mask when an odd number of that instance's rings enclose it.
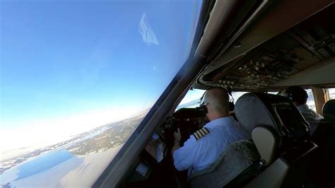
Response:
[[[90,187],[189,56],[201,1],[0,8],[0,185]]]

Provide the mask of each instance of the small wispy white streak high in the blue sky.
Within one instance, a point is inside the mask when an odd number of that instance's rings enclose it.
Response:
[[[151,28],[146,13],[143,13],[141,21],[139,23],[140,33],[142,35],[143,42],[147,45],[159,45],[157,37]]]

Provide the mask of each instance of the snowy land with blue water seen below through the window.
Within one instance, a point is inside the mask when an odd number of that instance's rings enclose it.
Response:
[[[20,185],[33,187],[87,186],[88,184],[85,183],[92,183],[98,178],[95,176],[100,175],[110,163],[145,114],[146,112],[143,112],[129,119],[105,124],[73,136],[67,141],[36,148],[33,151],[28,150],[3,160],[0,162],[0,185],[2,187]],[[49,163],[48,160],[52,160],[52,156],[49,159],[46,156],[51,155],[49,153],[57,155],[60,152],[69,153],[66,154],[69,157],[64,161],[61,160],[59,164],[52,164],[46,168],[45,164]],[[57,156],[57,158],[62,157],[62,155]],[[39,160],[42,161],[41,164],[37,163],[36,165],[36,161]],[[52,162],[50,161],[50,163]],[[41,170],[23,172],[29,171],[28,167],[31,164],[34,164],[34,168],[41,168]],[[27,173],[31,175],[27,175]],[[87,178],[83,178],[85,175]]]

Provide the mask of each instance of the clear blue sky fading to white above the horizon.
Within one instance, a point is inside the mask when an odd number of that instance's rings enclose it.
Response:
[[[0,1],[0,152],[151,107],[189,55],[200,6]]]

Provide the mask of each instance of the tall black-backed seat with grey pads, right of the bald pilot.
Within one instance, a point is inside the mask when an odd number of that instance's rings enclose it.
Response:
[[[252,140],[269,166],[246,186],[300,186],[316,146],[297,107],[280,95],[246,93],[237,100],[235,114],[243,129],[252,130]]]

